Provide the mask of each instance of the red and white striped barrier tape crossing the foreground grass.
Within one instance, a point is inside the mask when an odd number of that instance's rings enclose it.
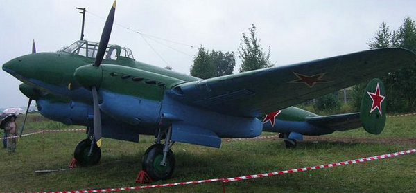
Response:
[[[367,161],[371,161],[371,160],[379,160],[379,159],[384,159],[384,158],[392,158],[392,157],[395,157],[395,156],[401,156],[401,155],[405,155],[405,154],[412,154],[412,153],[415,153],[415,152],[416,152],[416,149],[410,149],[410,150],[407,150],[407,151],[399,151],[399,152],[396,152],[396,153],[393,153],[393,154],[384,154],[384,155],[381,155],[381,156],[372,156],[372,157],[355,159],[355,160],[347,160],[347,161],[338,162],[338,163],[330,163],[330,164],[327,164],[327,165],[317,165],[317,166],[313,166],[313,167],[302,167],[302,168],[297,168],[297,169],[288,169],[288,170],[279,171],[279,172],[269,172],[269,173],[264,173],[264,174],[254,174],[254,175],[250,175],[250,176],[240,176],[240,177],[233,177],[233,178],[213,178],[213,179],[208,179],[208,180],[188,181],[188,182],[180,182],[180,183],[143,185],[143,186],[135,186],[135,187],[104,188],[104,189],[96,189],[96,190],[56,191],[56,192],[49,192],[49,193],[58,193],[58,192],[59,193],[60,192],[66,192],[66,193],[116,192],[116,191],[121,191],[121,190],[139,190],[139,189],[152,188],[152,187],[170,187],[170,186],[177,186],[177,185],[210,183],[210,182],[218,182],[218,181],[223,182],[223,183],[227,183],[227,182],[232,182],[232,181],[249,180],[249,179],[252,179],[252,178],[262,178],[262,177],[266,177],[266,176],[275,176],[275,175],[279,175],[279,174],[290,174],[290,173],[293,173],[293,172],[304,172],[304,171],[309,171],[309,170],[313,170],[313,169],[324,169],[324,168],[328,168],[328,167],[336,167],[336,166],[340,166],[340,165],[349,165],[349,164],[353,164],[353,163],[363,163],[363,162],[367,162]]]

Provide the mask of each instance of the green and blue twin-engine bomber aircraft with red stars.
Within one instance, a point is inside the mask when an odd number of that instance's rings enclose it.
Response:
[[[359,113],[318,116],[291,106],[416,61],[410,50],[384,48],[201,80],[137,62],[130,49],[109,45],[114,12],[115,1],[99,44],[77,41],[53,53],[33,47],[3,70],[23,82],[19,89],[43,116],[87,127],[73,155],[78,165],[99,162],[102,137],[138,142],[139,134],[154,135],[142,162],[154,181],[172,176],[175,142],[220,147],[221,138],[270,131],[295,147],[304,135],[358,127],[379,134],[386,98],[378,79],[367,85]]]

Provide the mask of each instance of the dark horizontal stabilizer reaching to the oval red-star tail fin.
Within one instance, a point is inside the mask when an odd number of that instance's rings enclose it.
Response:
[[[316,118],[306,118],[306,122],[311,125],[336,131],[347,131],[361,127],[360,113],[347,113],[334,116],[322,116]]]

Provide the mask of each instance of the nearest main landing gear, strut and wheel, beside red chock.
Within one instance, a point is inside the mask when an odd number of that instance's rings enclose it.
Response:
[[[161,130],[159,129],[159,134],[157,134],[156,144],[150,146],[144,153],[141,164],[143,170],[148,173],[153,181],[171,178],[173,169],[175,169],[175,155],[169,145],[172,127],[168,127],[165,131]],[[161,143],[162,135],[166,136],[163,145]]]

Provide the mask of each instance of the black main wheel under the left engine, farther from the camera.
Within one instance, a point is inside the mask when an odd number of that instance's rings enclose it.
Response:
[[[91,149],[92,140],[86,138],[85,140],[81,140],[78,145],[75,147],[75,151],[73,151],[73,158],[76,159],[76,163],[81,166],[89,166],[89,165],[96,165],[100,162],[101,158],[101,149],[97,147],[96,143],[94,147]],[[92,150],[92,151],[91,151]],[[91,154],[89,154],[91,151]]]

